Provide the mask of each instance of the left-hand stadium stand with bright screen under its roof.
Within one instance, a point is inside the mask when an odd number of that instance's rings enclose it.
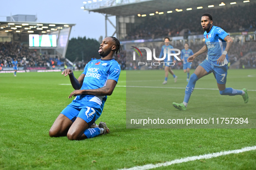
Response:
[[[18,61],[18,72],[70,66],[65,54],[75,24],[39,23],[33,15],[15,15],[6,16],[6,21],[0,21],[0,25],[2,73],[13,70],[14,58]]]

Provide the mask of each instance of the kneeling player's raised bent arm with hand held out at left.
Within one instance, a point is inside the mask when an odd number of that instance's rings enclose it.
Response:
[[[78,79],[75,78],[74,74],[73,74],[73,70],[71,69],[65,69],[63,72],[62,72],[62,75],[64,76],[69,76],[69,79],[70,79],[70,82],[71,82],[71,85],[72,87],[75,89],[75,90],[79,90],[82,85],[83,85],[83,80],[84,80],[84,74],[81,74],[81,76],[79,76]]]

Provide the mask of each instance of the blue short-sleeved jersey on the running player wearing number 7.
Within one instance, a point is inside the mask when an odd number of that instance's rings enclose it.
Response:
[[[207,58],[211,64],[214,66],[217,65],[217,59],[222,55],[223,51],[226,48],[226,41],[224,38],[227,36],[227,32],[217,26],[212,26],[211,31],[207,33],[204,32],[205,44],[207,45],[208,53]],[[228,56],[226,55],[226,59],[221,66],[224,66],[228,63]]]

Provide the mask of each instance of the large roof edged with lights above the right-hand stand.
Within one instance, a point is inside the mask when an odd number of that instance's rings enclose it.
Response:
[[[167,12],[172,10],[176,12],[175,9],[183,9],[185,11],[187,8],[197,9],[198,6],[202,6],[204,9],[209,8],[209,5],[214,5],[214,7],[219,7],[219,4],[224,2],[225,6],[231,6],[230,3],[236,2],[234,5],[243,5],[244,0],[119,0],[120,3],[116,1],[102,1],[97,3],[86,3],[81,9],[87,10],[89,12],[104,13],[113,16],[132,16],[137,14],[149,14],[158,12]],[[248,1],[248,0],[247,0]],[[252,1],[252,0],[251,0]],[[111,3],[112,2],[112,3]],[[123,2],[123,3],[122,3]]]

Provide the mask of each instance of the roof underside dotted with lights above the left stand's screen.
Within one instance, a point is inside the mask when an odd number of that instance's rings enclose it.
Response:
[[[47,34],[75,24],[66,23],[41,23],[41,22],[12,22],[0,21],[0,33],[34,33]]]

